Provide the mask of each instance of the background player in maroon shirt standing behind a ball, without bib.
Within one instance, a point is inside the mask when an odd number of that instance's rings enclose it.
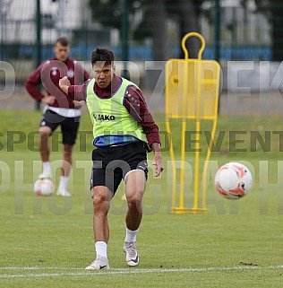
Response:
[[[71,196],[67,191],[70,168],[72,164],[73,144],[78,132],[81,105],[83,102],[70,100],[59,88],[60,78],[67,76],[72,84],[84,83],[90,75],[69,58],[70,46],[68,39],[56,39],[55,57],[47,60],[35,70],[25,83],[27,91],[35,100],[46,104],[43,118],[39,124],[39,151],[43,163],[43,172],[39,179],[52,178],[50,167],[50,149],[48,136],[61,126],[63,135],[63,161],[61,177],[57,189],[59,196]],[[38,85],[42,84],[46,93],[40,92]]]

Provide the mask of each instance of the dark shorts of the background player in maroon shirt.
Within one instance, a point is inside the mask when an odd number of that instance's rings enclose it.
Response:
[[[80,125],[80,116],[68,118],[47,109],[39,124],[40,127],[50,127],[52,132],[54,132],[59,125],[61,126],[63,135],[63,144],[75,144]]]

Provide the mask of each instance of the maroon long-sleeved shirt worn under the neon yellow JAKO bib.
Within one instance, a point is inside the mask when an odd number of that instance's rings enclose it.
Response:
[[[96,92],[96,94],[101,98],[110,97],[113,92],[116,92],[121,82],[122,78],[115,75],[110,85],[105,89],[99,88],[99,85],[95,83],[94,92]],[[85,100],[88,83],[89,81],[80,86],[70,86],[68,89],[69,96],[73,100]],[[153,143],[161,144],[159,127],[156,125],[152,115],[150,114],[141,90],[135,86],[130,86],[127,88],[127,92],[128,97],[124,98],[124,107],[128,110],[131,116],[142,125],[143,132],[145,133],[150,146]]]

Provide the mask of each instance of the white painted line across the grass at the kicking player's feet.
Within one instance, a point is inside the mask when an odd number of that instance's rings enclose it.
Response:
[[[120,268],[103,271],[88,272],[69,272],[69,273],[42,273],[26,275],[0,274],[0,279],[8,278],[35,278],[35,277],[57,277],[57,276],[84,276],[84,275],[125,275],[125,274],[146,274],[146,273],[170,273],[170,272],[210,272],[210,271],[232,271],[232,270],[262,270],[262,269],[282,269],[279,266],[235,266],[235,267],[202,267],[202,268],[158,268],[158,269],[132,269]],[[64,267],[0,267],[0,270],[81,270],[82,268],[64,268]]]

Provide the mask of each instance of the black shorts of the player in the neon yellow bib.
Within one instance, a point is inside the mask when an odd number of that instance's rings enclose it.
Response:
[[[147,179],[147,153],[148,145],[142,141],[94,149],[90,189],[106,186],[115,194],[121,180],[131,170],[142,170]]]

